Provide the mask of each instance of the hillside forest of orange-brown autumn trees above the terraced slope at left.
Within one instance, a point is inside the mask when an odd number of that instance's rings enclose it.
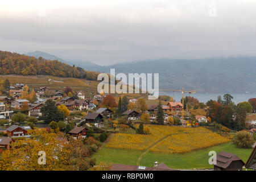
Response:
[[[52,75],[97,80],[98,73],[85,71],[58,60],[36,59],[32,56],[0,51],[0,75]]]

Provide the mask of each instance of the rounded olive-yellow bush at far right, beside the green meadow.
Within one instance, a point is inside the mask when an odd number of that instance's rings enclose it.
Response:
[[[251,148],[254,144],[254,138],[247,131],[239,131],[234,137],[233,143],[240,148]]]

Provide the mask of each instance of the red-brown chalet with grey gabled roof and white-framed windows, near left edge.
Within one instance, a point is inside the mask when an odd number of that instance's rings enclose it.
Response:
[[[13,125],[6,129],[8,137],[30,137],[27,131],[31,130],[30,126],[17,126]]]

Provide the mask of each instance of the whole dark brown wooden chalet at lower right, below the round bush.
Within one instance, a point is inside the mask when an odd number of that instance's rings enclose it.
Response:
[[[221,151],[216,156],[216,164],[214,164],[214,171],[242,171],[243,161],[238,156]]]

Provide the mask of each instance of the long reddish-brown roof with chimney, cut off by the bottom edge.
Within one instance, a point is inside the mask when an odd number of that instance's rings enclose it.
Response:
[[[154,167],[146,166],[132,166],[125,164],[113,164],[110,171],[179,171],[177,169],[171,169],[166,164],[155,162]]]

